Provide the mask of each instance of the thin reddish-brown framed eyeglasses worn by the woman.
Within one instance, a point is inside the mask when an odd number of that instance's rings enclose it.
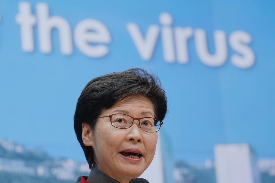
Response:
[[[110,114],[109,116],[102,116],[99,118],[106,117],[110,118],[112,126],[121,129],[130,128],[134,120],[138,120],[138,127],[146,132],[157,132],[160,130],[160,126],[163,124],[162,121],[159,121],[155,118],[133,118],[127,114]]]

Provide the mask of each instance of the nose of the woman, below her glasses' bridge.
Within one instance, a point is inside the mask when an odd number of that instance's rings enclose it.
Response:
[[[126,140],[134,143],[143,142],[143,137],[141,134],[142,130],[139,128],[140,128],[139,122],[137,120],[134,120],[132,126],[129,128],[129,133],[127,134]]]

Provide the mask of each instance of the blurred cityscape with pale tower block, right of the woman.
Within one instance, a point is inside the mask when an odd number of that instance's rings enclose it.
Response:
[[[256,159],[248,144],[217,144],[215,161],[202,166],[177,162],[176,183],[275,183],[275,159]]]

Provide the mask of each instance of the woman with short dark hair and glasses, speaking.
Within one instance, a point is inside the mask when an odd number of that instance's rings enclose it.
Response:
[[[154,158],[167,99],[157,76],[129,69],[92,79],[76,104],[74,130],[91,172],[77,182],[135,182]]]

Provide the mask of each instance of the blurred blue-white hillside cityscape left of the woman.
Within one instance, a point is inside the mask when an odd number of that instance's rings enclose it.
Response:
[[[87,163],[52,158],[42,150],[27,150],[13,141],[0,142],[1,183],[74,183],[89,172]]]

